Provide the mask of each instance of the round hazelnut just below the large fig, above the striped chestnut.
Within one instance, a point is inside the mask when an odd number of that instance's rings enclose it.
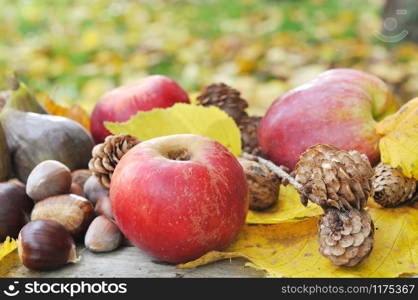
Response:
[[[50,196],[68,194],[71,171],[55,160],[45,160],[33,168],[26,183],[26,193],[35,202]]]

